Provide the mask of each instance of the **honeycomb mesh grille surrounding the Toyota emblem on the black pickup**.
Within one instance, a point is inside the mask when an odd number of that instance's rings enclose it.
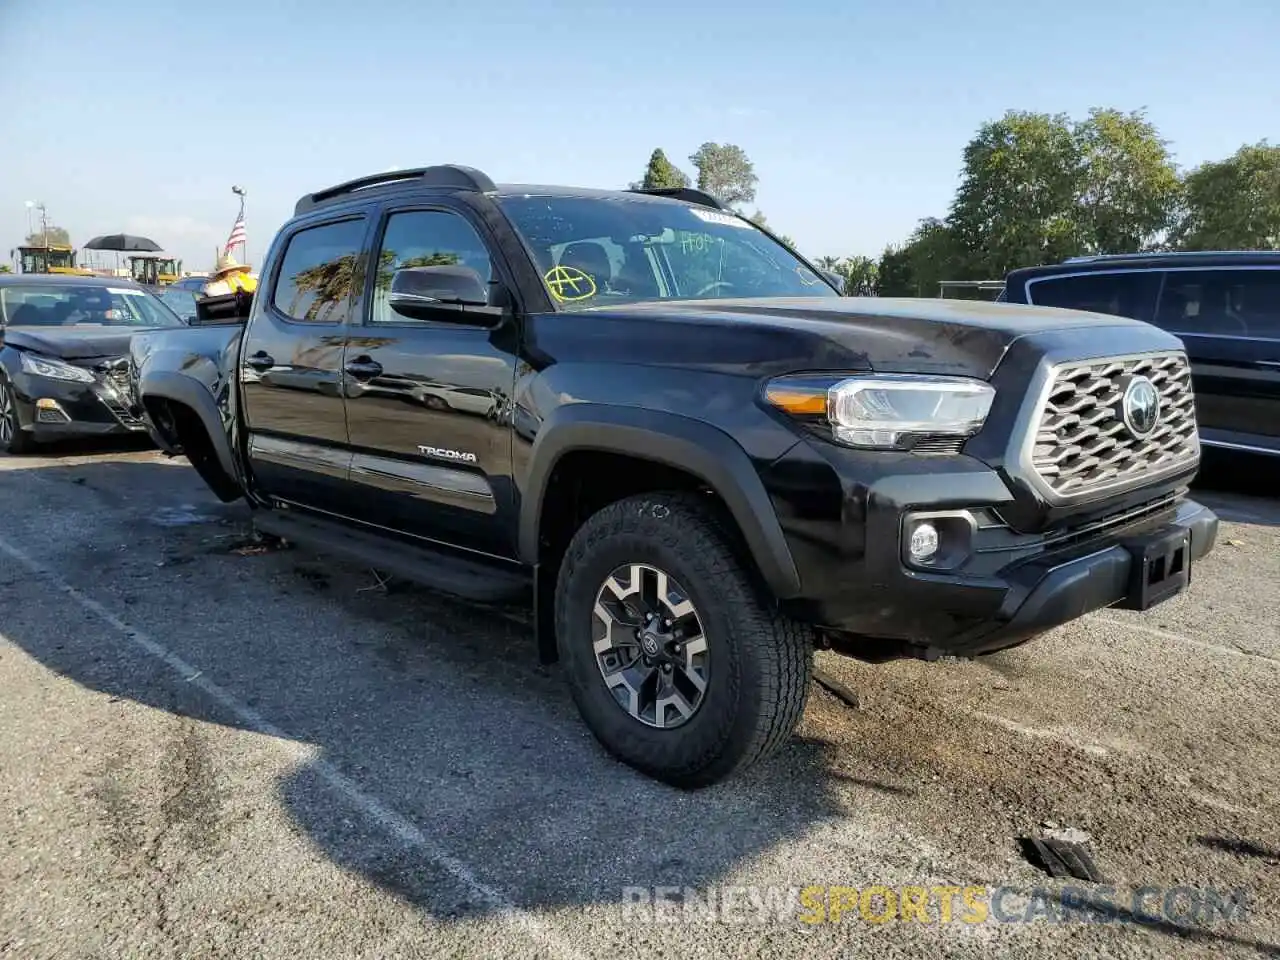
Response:
[[[1160,420],[1135,435],[1121,415],[1132,378],[1146,376],[1160,396]],[[1199,456],[1190,366],[1183,353],[1064,364],[1036,429],[1032,467],[1059,497],[1138,483]]]

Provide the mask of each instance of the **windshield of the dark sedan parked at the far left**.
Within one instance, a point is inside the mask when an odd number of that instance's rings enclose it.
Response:
[[[0,287],[0,319],[9,326],[178,326],[182,319],[146,291],[90,284]]]

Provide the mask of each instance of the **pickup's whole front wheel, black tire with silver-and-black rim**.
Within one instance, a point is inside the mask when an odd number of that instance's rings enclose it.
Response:
[[[812,634],[771,609],[705,498],[643,494],[575,534],[557,584],[573,700],[609,753],[703,787],[764,759],[804,713]]]

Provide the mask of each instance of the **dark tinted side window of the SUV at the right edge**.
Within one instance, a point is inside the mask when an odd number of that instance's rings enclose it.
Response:
[[[1280,270],[1170,270],[1156,324],[1180,334],[1280,339]]]

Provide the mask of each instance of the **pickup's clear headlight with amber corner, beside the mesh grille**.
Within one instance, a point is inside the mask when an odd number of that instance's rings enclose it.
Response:
[[[774,407],[822,422],[847,447],[909,449],[920,436],[970,436],[982,429],[995,388],[963,376],[910,374],[783,376],[764,392]]]

